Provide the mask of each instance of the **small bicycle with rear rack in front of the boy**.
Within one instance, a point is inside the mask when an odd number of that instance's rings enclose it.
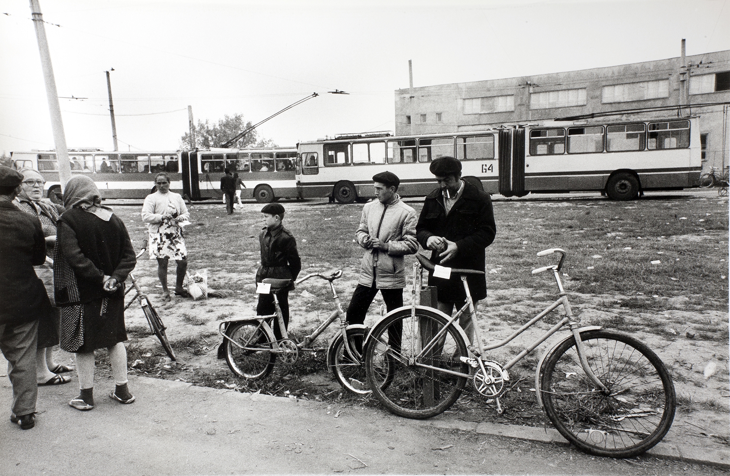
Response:
[[[312,278],[320,277],[329,283],[332,291],[335,310],[329,317],[320,323],[312,334],[305,336],[301,342],[290,338],[284,326],[284,318],[279,307],[278,291],[291,284],[291,280],[277,280],[266,278],[264,285],[270,286],[270,293],[274,296],[276,313],[272,315],[257,315],[253,319],[224,320],[218,326],[218,332],[223,336],[224,356],[231,372],[246,379],[264,378],[274,368],[277,356],[283,364],[292,365],[299,357],[299,351],[316,353],[324,348],[310,348],[312,342],[331,324],[339,318],[339,330],[331,339],[327,348],[327,368],[334,372],[335,378],[343,388],[355,394],[369,394],[362,360],[362,342],[369,330],[362,324],[348,324],[339,296],[334,288],[334,280],[342,277],[342,270],[322,275],[312,273],[299,280],[296,284]],[[258,292],[258,289],[257,289]],[[274,324],[273,321],[276,321]],[[281,339],[274,335],[272,327],[278,325]],[[347,336],[347,339],[345,339]]]

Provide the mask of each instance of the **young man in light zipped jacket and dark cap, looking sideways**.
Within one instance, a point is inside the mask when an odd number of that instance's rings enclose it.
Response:
[[[363,207],[356,232],[358,244],[365,248],[360,279],[347,307],[347,321],[361,324],[377,291],[388,312],[403,305],[406,278],[403,257],[418,251],[415,210],[404,204],[398,193],[400,179],[391,172],[372,177],[377,200]]]

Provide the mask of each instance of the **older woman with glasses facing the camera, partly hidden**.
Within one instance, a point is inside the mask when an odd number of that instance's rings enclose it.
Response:
[[[55,245],[56,223],[64,207],[43,199],[45,180],[34,169],[20,169],[23,176],[20,184],[20,193],[15,197],[14,204],[23,212],[33,215],[41,224],[46,241],[46,252],[52,256]],[[51,304],[53,302],[53,269],[47,265],[35,266],[36,275],[41,278],[46,287]],[[38,322],[38,350],[36,354],[38,385],[61,385],[69,383],[71,379],[59,375],[71,372],[73,367],[56,364],[53,361],[53,346],[58,345],[58,326],[61,319],[58,310],[54,308],[53,315],[45,316]]]

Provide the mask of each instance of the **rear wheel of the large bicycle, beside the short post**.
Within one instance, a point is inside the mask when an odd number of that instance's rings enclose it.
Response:
[[[404,309],[372,330],[365,350],[368,382],[389,411],[405,418],[431,418],[458,399],[469,367],[460,361],[468,354],[456,328],[449,326],[437,345],[418,356],[447,322],[436,312],[419,309],[412,318],[411,310]]]

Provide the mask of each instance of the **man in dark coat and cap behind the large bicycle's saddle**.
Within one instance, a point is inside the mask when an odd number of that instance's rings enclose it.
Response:
[[[496,226],[492,201],[488,193],[461,180],[461,162],[453,157],[439,157],[429,167],[439,187],[426,196],[420,211],[416,234],[421,246],[432,250],[431,261],[451,268],[484,271],[484,250],[494,241]],[[483,275],[466,278],[475,307],[487,297]],[[461,280],[445,280],[429,272],[429,285],[438,289],[438,308],[451,315],[466,302]],[[459,324],[474,340],[471,317],[465,314]]]

